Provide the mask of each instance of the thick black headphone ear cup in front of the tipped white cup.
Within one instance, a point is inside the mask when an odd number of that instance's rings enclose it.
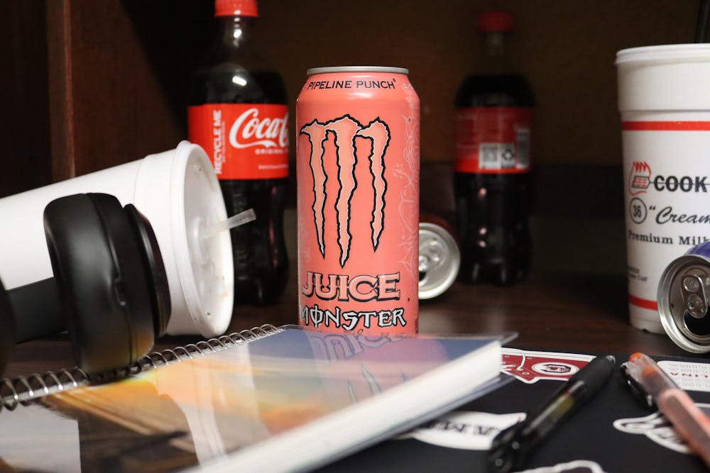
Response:
[[[45,236],[77,364],[89,373],[130,365],[153,346],[151,291],[118,199],[77,194],[50,202]]]

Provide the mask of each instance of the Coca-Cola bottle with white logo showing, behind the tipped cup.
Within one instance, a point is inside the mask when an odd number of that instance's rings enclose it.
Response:
[[[283,79],[253,40],[254,0],[216,0],[217,35],[190,83],[190,140],[212,160],[229,216],[256,221],[231,230],[236,303],[272,304],[288,279],[283,208],[288,106]]]

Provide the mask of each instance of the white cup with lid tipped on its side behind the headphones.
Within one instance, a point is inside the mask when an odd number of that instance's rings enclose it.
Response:
[[[168,333],[224,333],[234,304],[228,231],[199,239],[200,228],[226,218],[217,177],[202,148],[175,150],[0,199],[0,279],[8,289],[52,277],[43,226],[45,206],[85,192],[133,204],[153,226],[168,273]]]

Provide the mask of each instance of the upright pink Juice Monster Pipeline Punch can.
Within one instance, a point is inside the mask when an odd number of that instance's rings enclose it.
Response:
[[[399,67],[319,67],[296,102],[299,323],[413,334],[419,97]]]

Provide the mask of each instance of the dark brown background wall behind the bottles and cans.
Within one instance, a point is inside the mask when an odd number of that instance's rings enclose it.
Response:
[[[622,48],[690,42],[696,1],[258,5],[257,34],[292,107],[309,67],[410,69],[422,104],[422,208],[444,216],[453,206],[454,91],[481,52],[476,15],[513,11],[510,55],[537,96],[533,267],[623,272],[613,61]],[[187,78],[209,44],[212,11],[211,0],[0,0],[0,196],[174,148],[187,135]]]

